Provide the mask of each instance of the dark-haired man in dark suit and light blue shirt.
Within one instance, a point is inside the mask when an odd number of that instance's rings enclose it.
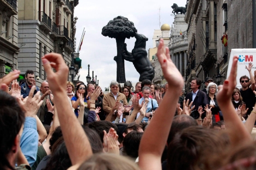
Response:
[[[194,110],[191,112],[191,115],[194,119],[199,118],[198,108],[199,106],[204,106],[208,104],[208,98],[206,96],[206,93],[200,90],[202,84],[202,80],[199,78],[192,78],[190,87],[192,89],[191,92],[187,93],[186,100],[189,99],[191,103],[193,101],[193,105],[195,105]]]

